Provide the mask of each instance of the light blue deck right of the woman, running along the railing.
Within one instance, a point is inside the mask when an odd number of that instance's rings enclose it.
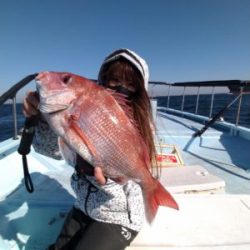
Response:
[[[162,143],[181,150],[185,165],[200,165],[225,181],[225,192],[250,194],[250,141],[234,136],[227,127],[209,128],[201,137],[192,135],[204,124],[159,112],[157,136]]]

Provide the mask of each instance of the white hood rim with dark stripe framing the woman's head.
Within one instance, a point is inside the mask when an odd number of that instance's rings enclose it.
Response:
[[[98,80],[100,79],[100,74],[103,70],[103,66],[109,62],[118,60],[120,57],[127,59],[130,63],[132,63],[139,70],[144,80],[145,89],[147,90],[148,79],[149,79],[148,65],[143,58],[141,58],[134,51],[131,51],[129,49],[118,49],[112,52],[109,56],[107,56],[105,60],[103,61],[102,66],[100,68]]]

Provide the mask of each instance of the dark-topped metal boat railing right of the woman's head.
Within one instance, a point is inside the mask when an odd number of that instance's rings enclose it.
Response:
[[[224,113],[230,106],[232,106],[236,101],[238,101],[238,107],[235,117],[235,126],[239,125],[240,120],[240,112],[241,112],[241,106],[242,106],[242,97],[243,95],[249,95],[250,94],[250,81],[241,81],[241,80],[221,80],[221,81],[199,81],[199,82],[175,82],[175,83],[167,83],[167,82],[158,82],[158,81],[150,81],[149,84],[151,85],[151,98],[157,99],[159,97],[163,97],[162,93],[166,93],[164,95],[166,100],[166,105],[164,107],[158,107],[160,110],[169,111],[172,108],[170,108],[170,100],[173,96],[181,96],[181,105],[179,108],[179,111],[181,114],[185,113],[193,113],[195,115],[198,114],[199,104],[200,104],[200,96],[202,94],[210,95],[210,105],[209,105],[209,115],[207,116],[208,120],[213,119],[213,111],[215,106],[215,94],[217,93],[224,93],[224,94],[233,94],[235,95],[235,98],[233,101],[230,101],[229,103],[225,104],[225,107],[221,110],[221,114]],[[156,86],[166,86],[166,90],[157,91],[157,93],[154,93],[154,88]],[[207,90],[205,93],[202,93],[202,90],[206,88]],[[191,91],[188,90],[192,89]],[[208,91],[211,90],[210,92]],[[220,91],[218,91],[220,89]],[[226,91],[227,90],[227,91]],[[229,93],[228,93],[229,90]],[[196,98],[194,99],[194,112],[186,112],[185,110],[185,99],[187,95],[194,95]],[[178,108],[174,107],[174,109],[178,110]],[[218,118],[218,117],[217,117]],[[217,119],[216,118],[216,119]]]

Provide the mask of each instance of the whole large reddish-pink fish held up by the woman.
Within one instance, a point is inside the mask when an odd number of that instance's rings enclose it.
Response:
[[[100,166],[109,178],[137,182],[150,222],[159,205],[178,209],[170,193],[151,175],[147,147],[110,91],[71,73],[42,72],[36,81],[39,109],[59,136],[69,163],[72,151]]]

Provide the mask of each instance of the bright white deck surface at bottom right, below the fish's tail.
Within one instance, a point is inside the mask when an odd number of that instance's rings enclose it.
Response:
[[[175,197],[180,211],[161,207],[153,224],[146,225],[135,239],[134,247],[250,249],[249,195]]]

